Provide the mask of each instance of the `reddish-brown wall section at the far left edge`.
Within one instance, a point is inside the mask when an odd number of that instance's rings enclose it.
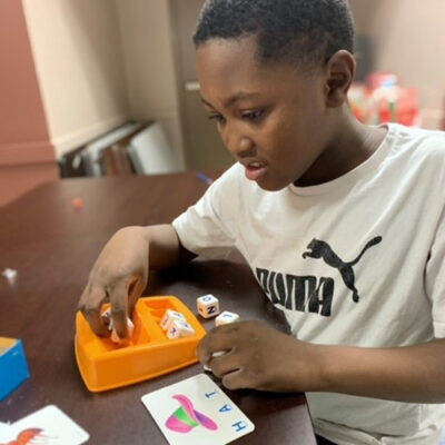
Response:
[[[58,178],[21,1],[0,1],[0,61],[2,206]]]

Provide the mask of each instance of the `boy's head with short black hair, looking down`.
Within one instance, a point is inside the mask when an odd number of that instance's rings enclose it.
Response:
[[[343,0],[207,0],[194,40],[202,102],[248,179],[279,190],[350,164],[354,24]]]

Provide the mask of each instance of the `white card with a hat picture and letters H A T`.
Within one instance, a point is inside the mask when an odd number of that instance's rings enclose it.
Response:
[[[205,374],[142,396],[170,445],[226,445],[255,425]]]

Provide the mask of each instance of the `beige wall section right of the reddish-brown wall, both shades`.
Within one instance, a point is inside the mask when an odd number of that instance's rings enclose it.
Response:
[[[125,120],[158,120],[182,159],[166,0],[23,0],[58,156]]]

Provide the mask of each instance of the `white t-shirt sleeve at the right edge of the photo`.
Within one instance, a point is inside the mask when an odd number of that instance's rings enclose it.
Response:
[[[426,291],[433,304],[436,338],[445,338],[445,208],[426,265]]]

